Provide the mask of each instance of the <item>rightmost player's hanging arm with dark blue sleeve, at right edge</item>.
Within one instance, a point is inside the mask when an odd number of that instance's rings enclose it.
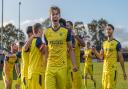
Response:
[[[118,43],[118,45],[117,45],[117,51],[118,51],[118,58],[119,58],[119,61],[120,61],[120,64],[121,64],[121,67],[122,67],[122,70],[123,70],[124,80],[126,80],[127,75],[126,75],[126,72],[125,72],[124,58],[123,58],[123,55],[122,55],[122,50],[121,50],[121,44],[120,43]]]

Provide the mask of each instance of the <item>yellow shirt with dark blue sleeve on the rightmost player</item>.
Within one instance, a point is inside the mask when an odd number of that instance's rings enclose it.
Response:
[[[104,71],[111,72],[117,68],[118,51],[121,50],[121,44],[117,40],[103,42],[104,51]]]

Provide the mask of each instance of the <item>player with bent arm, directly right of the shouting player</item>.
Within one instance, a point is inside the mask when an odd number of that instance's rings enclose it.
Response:
[[[80,47],[84,47],[85,43],[78,35],[76,35],[75,31],[73,31],[73,23],[71,21],[66,22],[66,27],[72,32],[72,46],[74,48],[76,64],[78,67],[78,71],[73,72],[72,88],[81,89],[82,75],[80,71]]]

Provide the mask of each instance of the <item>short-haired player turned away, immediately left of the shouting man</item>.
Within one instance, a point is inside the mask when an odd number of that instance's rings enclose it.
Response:
[[[26,42],[25,51],[29,50],[28,89],[44,89],[44,59],[42,51],[45,45],[42,43],[41,24],[33,26],[33,36]]]

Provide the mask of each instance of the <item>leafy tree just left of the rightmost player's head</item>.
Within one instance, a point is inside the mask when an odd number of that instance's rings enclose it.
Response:
[[[101,49],[102,42],[106,40],[105,36],[105,28],[108,22],[101,18],[99,20],[92,20],[91,23],[88,24],[89,33],[92,36],[91,41],[93,45],[96,46],[97,50]]]

